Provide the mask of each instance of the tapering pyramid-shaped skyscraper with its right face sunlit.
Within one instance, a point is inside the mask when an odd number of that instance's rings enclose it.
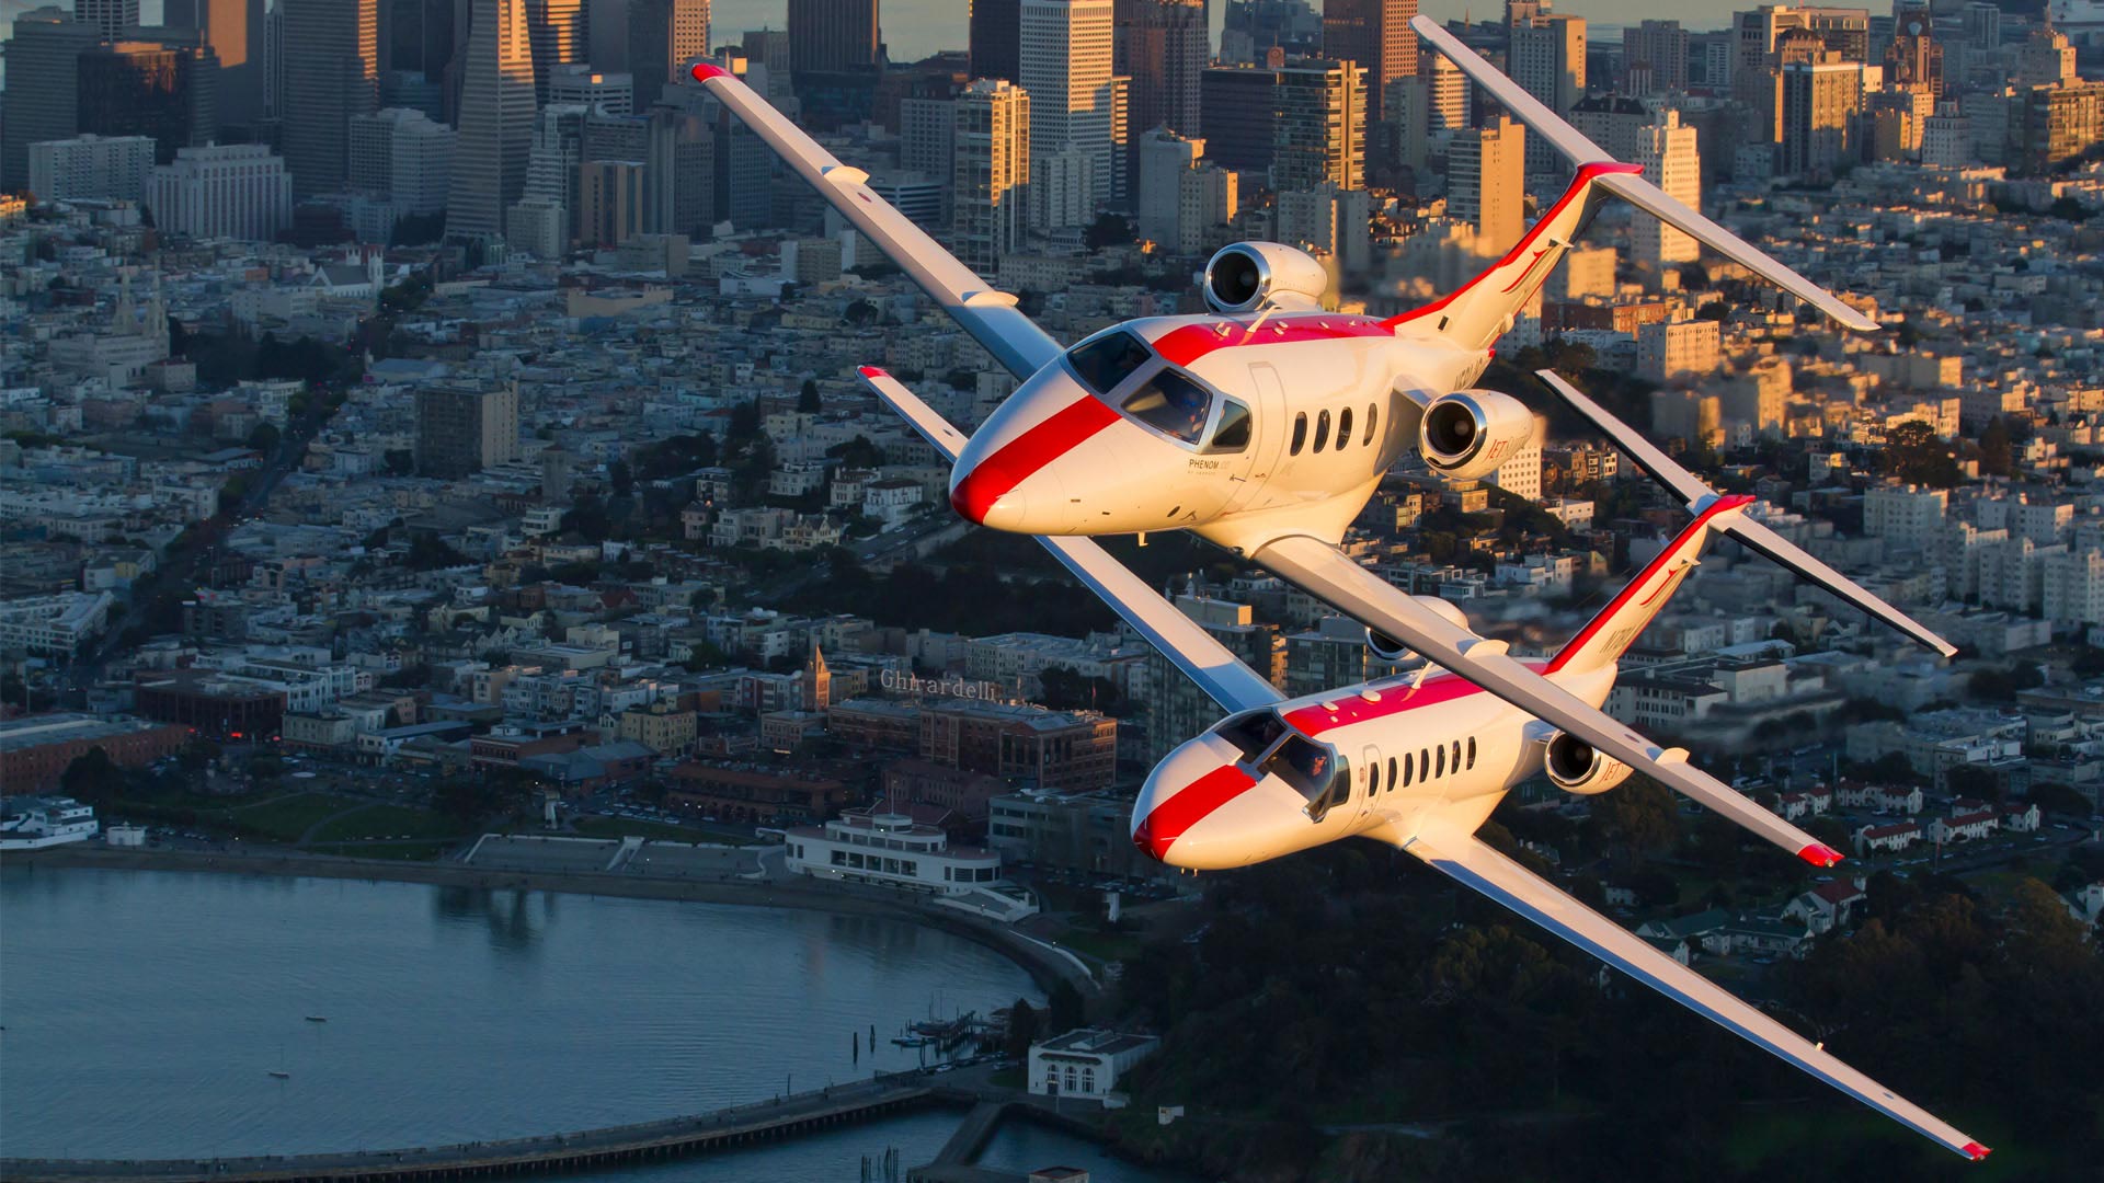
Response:
[[[446,236],[505,232],[505,210],[526,189],[532,154],[532,42],[526,0],[471,0],[461,76],[459,160],[446,200]]]

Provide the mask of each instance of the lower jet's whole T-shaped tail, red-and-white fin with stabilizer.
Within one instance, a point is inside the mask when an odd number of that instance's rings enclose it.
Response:
[[[1544,383],[1549,383],[1551,389],[1563,396],[1563,402],[1570,402],[1572,410],[1576,410],[1595,427],[1599,427],[1603,436],[1607,436],[1610,440],[1614,440],[1618,448],[1622,448],[1622,453],[1631,459],[1631,463],[1635,463],[1639,469],[1643,469],[1645,476],[1650,476],[1668,493],[1673,493],[1673,497],[1677,497],[1681,505],[1685,505],[1687,512],[1696,516],[1694,524],[1687,526],[1687,530],[1683,530],[1681,537],[1675,539],[1673,545],[1668,545],[1666,552],[1660,554],[1658,560],[1650,568],[1645,568],[1645,573],[1639,575],[1635,583],[1622,589],[1622,596],[1618,596],[1616,602],[1610,604],[1607,610],[1599,615],[1599,619],[1586,625],[1586,629],[1578,634],[1578,640],[1574,640],[1570,648],[1565,648],[1555,657],[1555,663],[1551,665],[1553,669],[1561,669],[1567,665],[1584,669],[1586,667],[1582,665],[1584,661],[1599,663],[1618,659],[1622,650],[1628,648],[1628,642],[1635,640],[1635,629],[1641,629],[1645,623],[1652,621],[1654,615],[1658,615],[1658,608],[1664,606],[1666,598],[1673,594],[1673,587],[1679,585],[1679,577],[1685,575],[1687,566],[1694,566],[1696,556],[1700,554],[1700,547],[1708,539],[1711,530],[1721,533],[1732,541],[1740,543],[1742,547],[1767,556],[1769,560],[1791,568],[1799,579],[1824,587],[1826,592],[1839,596],[1841,600],[1862,610],[1864,615],[1900,629],[1910,640],[1921,642],[1944,657],[1957,655],[1957,646],[1936,636],[1921,621],[1908,617],[1900,608],[1894,608],[1883,598],[1875,596],[1870,589],[1862,587],[1847,575],[1841,575],[1839,570],[1812,558],[1797,543],[1784,539],[1776,530],[1742,514],[1740,509],[1753,501],[1751,497],[1723,497],[1708,484],[1702,484],[1702,480],[1698,480],[1696,474],[1681,467],[1673,457],[1660,450],[1658,444],[1639,436],[1635,429],[1628,427],[1628,423],[1622,423],[1614,415],[1607,415],[1607,410],[1601,404],[1580,394],[1578,387],[1563,381],[1553,370],[1540,370],[1536,377],[1540,377]],[[1683,556],[1685,562],[1681,566],[1668,564],[1666,570],[1660,570],[1660,564],[1666,564],[1666,560],[1677,554]],[[1610,617],[1614,617],[1614,621],[1618,623],[1612,623]],[[1626,629],[1631,621],[1635,621],[1635,629]],[[1622,636],[1624,631],[1626,636]],[[1614,644],[1614,638],[1618,636],[1620,636],[1620,646]],[[1605,657],[1601,657],[1601,653],[1605,653]]]

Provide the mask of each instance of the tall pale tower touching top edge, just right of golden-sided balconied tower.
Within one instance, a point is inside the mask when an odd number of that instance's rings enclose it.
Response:
[[[1023,88],[1031,97],[1031,154],[1069,147],[1090,162],[1088,204],[1117,192],[1117,91],[1111,0],[1023,0]]]

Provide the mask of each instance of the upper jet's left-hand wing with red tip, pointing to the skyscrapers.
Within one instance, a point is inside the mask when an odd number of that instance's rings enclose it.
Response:
[[[1060,343],[1023,316],[1016,297],[995,290],[926,229],[913,225],[913,219],[871,192],[869,173],[842,164],[722,65],[694,63],[694,80],[745,120],[745,126],[789,162],[797,177],[810,181],[839,217],[898,263],[974,341],[1008,366],[1008,373],[1027,379],[1060,356]]]

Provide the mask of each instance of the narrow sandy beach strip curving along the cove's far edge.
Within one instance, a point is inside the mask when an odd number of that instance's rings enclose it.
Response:
[[[842,916],[888,916],[909,924],[926,924],[999,951],[1016,962],[1050,991],[1069,981],[1084,996],[1096,994],[1096,983],[1058,954],[1020,937],[1006,926],[972,920],[959,911],[922,905],[911,899],[884,899],[829,886],[783,884],[772,880],[654,880],[633,874],[598,871],[505,871],[461,863],[406,863],[396,859],[349,859],[337,855],[223,853],[109,848],[101,844],[67,844],[42,850],[17,850],[8,867],[105,867],[133,871],[206,871],[246,876],[305,876],[320,880],[377,880],[438,886],[473,886],[486,890],[555,890],[568,895],[606,895],[625,899],[677,899],[694,903],[736,903],[760,907],[802,907]]]

